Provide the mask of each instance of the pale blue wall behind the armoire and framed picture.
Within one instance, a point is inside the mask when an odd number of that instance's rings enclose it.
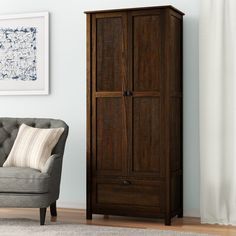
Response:
[[[86,20],[83,11],[168,5],[184,17],[184,212],[199,214],[198,0],[1,0],[0,14],[50,12],[50,96],[1,96],[1,116],[70,125],[59,206],[85,207]]]

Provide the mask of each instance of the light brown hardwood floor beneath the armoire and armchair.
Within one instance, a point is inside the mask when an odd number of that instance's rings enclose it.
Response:
[[[39,220],[38,209],[0,209],[1,218],[27,218]],[[86,220],[84,210],[58,208],[57,218],[50,218],[50,211],[47,210],[46,224],[48,221],[59,221],[74,224],[93,224],[105,226],[134,227],[142,229],[162,229],[186,232],[208,233],[213,235],[236,236],[236,227],[219,225],[202,225],[199,218],[184,217],[183,219],[174,218],[172,226],[165,226],[163,220],[102,216],[95,215],[93,220]]]

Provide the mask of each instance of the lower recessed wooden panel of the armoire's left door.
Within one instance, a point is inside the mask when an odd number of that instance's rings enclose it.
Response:
[[[125,171],[123,102],[121,97],[96,99],[97,173],[118,175]]]

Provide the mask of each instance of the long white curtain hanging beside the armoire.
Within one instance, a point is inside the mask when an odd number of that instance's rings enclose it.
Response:
[[[201,221],[236,225],[236,0],[201,0]]]

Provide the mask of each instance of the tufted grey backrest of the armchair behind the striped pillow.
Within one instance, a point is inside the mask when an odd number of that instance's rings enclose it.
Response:
[[[45,118],[0,118],[0,166],[7,159],[22,123],[36,128],[64,128],[63,134],[52,151],[52,154],[63,156],[68,135],[68,126],[64,121]]]

